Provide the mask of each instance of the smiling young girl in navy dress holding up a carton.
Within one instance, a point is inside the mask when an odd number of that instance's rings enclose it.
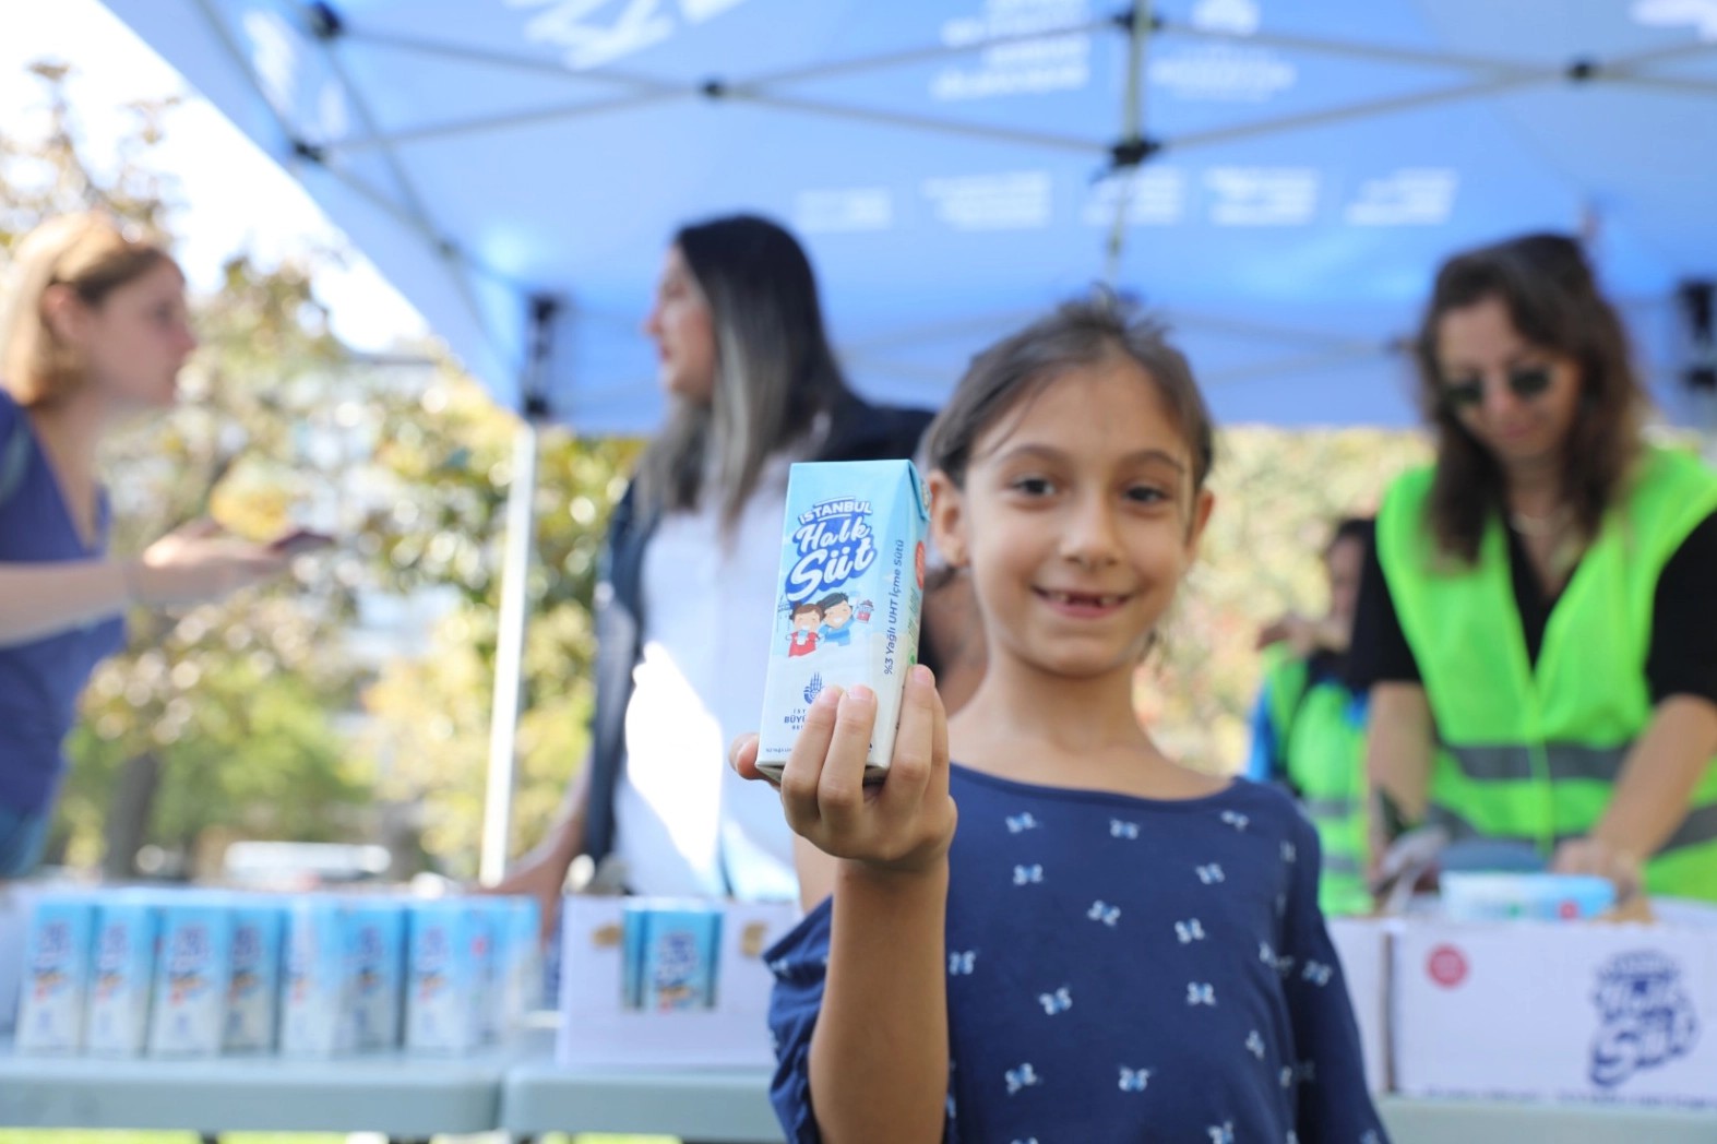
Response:
[[[767,953],[788,1137],[1382,1141],[1315,830],[1133,715],[1212,505],[1185,359],[1068,306],[974,361],[929,452],[989,661],[951,720],[913,668],[879,787],[864,687],[824,689],[781,776],[817,904]]]

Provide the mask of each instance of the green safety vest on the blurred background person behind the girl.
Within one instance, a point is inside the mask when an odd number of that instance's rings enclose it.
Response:
[[[1317,900],[1326,914],[1365,914],[1365,725],[1339,680],[1307,687],[1307,661],[1265,653],[1264,685],[1283,775],[1317,826],[1324,869]]]

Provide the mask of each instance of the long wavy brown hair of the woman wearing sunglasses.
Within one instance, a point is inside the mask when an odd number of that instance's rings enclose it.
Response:
[[[1468,563],[1492,512],[1506,512],[1502,467],[1468,433],[1442,395],[1437,333],[1453,309],[1501,301],[1532,345],[1568,357],[1580,374],[1580,407],[1562,443],[1562,498],[1587,539],[1597,534],[1640,452],[1647,397],[1633,371],[1621,316],[1599,292],[1574,239],[1530,234],[1456,254],[1437,271],[1420,325],[1420,404],[1437,436],[1430,526],[1442,551]]]

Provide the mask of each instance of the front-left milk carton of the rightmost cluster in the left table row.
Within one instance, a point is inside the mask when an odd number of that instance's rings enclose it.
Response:
[[[488,1036],[493,976],[486,910],[460,898],[414,902],[407,929],[405,1048],[464,1053]]]

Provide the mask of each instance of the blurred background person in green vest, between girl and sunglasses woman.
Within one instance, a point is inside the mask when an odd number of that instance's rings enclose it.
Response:
[[[1317,826],[1324,847],[1319,905],[1326,914],[1363,914],[1365,886],[1365,694],[1348,685],[1348,641],[1372,520],[1350,517],[1324,550],[1329,612],[1289,613],[1259,636],[1264,685],[1252,713],[1247,778],[1284,787]]]

